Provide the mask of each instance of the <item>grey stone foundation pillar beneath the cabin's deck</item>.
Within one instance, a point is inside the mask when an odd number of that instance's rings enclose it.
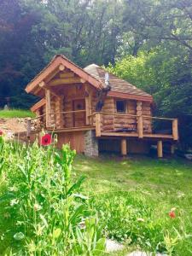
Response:
[[[96,139],[95,131],[84,132],[84,154],[87,156],[98,156],[98,140]]]

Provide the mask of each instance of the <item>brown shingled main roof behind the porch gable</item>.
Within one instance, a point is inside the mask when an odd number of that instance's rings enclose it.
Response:
[[[102,82],[102,85],[105,86],[105,73],[106,70],[102,67],[97,66],[96,64],[91,64],[87,67],[84,67],[84,70],[87,73],[90,73],[91,76],[95,77],[97,80]],[[111,91],[109,95],[113,95],[113,93],[121,93],[121,94],[129,94],[132,96],[143,96],[143,99],[147,99],[148,101],[153,101],[153,97],[149,95],[147,92],[138,89],[135,85],[130,84],[124,79],[119,79],[112,73],[109,73],[109,84],[111,86]],[[117,94],[118,96],[118,94]]]

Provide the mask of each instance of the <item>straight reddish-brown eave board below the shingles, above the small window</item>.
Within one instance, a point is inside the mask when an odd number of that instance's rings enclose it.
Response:
[[[149,102],[149,103],[154,102],[153,96],[140,96],[140,95],[128,94],[128,93],[123,93],[118,91],[109,91],[108,96],[113,96],[113,97],[128,99],[128,100],[137,100],[141,102]]]

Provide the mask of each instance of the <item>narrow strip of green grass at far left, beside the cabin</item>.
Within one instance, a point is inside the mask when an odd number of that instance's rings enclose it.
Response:
[[[34,117],[34,113],[24,109],[0,110],[0,118],[26,118]]]

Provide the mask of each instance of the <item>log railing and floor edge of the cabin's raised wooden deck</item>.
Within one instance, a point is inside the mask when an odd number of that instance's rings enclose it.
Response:
[[[81,111],[71,111],[71,112],[59,112],[59,113],[50,113],[50,115],[61,115],[61,114],[68,114],[68,113],[82,113],[84,110]],[[106,130],[103,128],[103,116],[113,117],[115,119],[116,117],[123,116],[124,119],[135,119],[135,127],[137,127],[135,130],[137,131],[117,131],[115,130],[115,126],[112,127],[110,130]],[[34,119],[31,119],[28,121],[28,127],[27,127],[27,133],[29,134],[31,132],[31,126],[32,121],[42,119],[44,115],[38,116]],[[65,127],[64,125],[60,128],[56,128],[55,125],[48,125],[49,122],[45,122],[44,129],[47,131],[52,132],[69,132],[69,131],[89,131],[89,130],[96,130],[96,137],[136,137],[140,139],[162,139],[162,140],[178,140],[178,131],[177,131],[177,119],[168,119],[168,118],[159,118],[159,117],[150,117],[150,116],[144,116],[144,115],[133,115],[133,114],[122,114],[122,113],[92,113],[89,115],[89,124],[90,125],[84,125],[84,126],[78,126],[78,127]],[[160,122],[162,121],[168,121],[170,122],[172,126],[172,132],[170,134],[163,134],[163,133],[153,133],[153,132],[145,132],[143,127],[143,119],[150,119],[152,120],[158,120]],[[124,124],[122,124],[122,128],[124,128]]]

